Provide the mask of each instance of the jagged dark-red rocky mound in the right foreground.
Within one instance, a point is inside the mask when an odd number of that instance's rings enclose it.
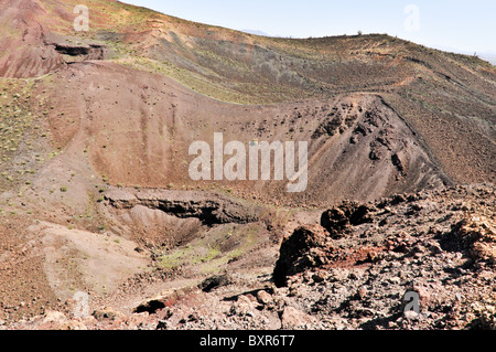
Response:
[[[279,292],[331,329],[494,329],[494,185],[345,202],[283,241]]]

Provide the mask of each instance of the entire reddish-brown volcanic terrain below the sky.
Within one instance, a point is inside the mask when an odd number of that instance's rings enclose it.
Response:
[[[77,3],[0,0],[0,327],[494,328],[494,66]],[[305,190],[194,181],[214,134],[308,142]]]

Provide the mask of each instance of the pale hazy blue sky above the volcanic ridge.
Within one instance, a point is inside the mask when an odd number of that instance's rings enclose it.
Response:
[[[185,20],[309,38],[387,33],[431,47],[496,53],[495,0],[125,0]]]

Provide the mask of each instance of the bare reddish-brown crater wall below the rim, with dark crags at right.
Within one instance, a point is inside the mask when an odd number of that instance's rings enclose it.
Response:
[[[209,186],[214,182],[191,180],[195,157],[188,156],[188,147],[194,141],[213,147],[219,131],[225,143],[238,140],[247,149],[254,140],[310,141],[305,192],[288,194],[287,181],[215,182],[245,198],[314,205],[451,182],[411,127],[378,95],[240,106],[104,62],[72,64],[52,79],[55,86],[65,84],[63,96],[46,97],[58,107],[48,114],[54,141],[77,160],[87,157],[90,168],[112,184]]]

